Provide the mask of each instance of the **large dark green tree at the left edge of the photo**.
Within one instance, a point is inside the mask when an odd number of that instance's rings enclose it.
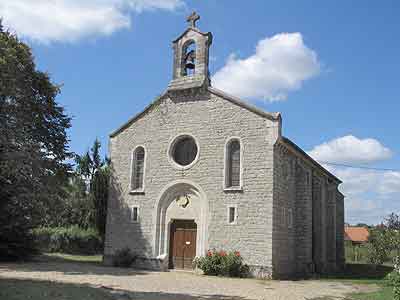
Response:
[[[62,193],[70,118],[31,49],[0,26],[0,258],[32,249],[31,229]]]

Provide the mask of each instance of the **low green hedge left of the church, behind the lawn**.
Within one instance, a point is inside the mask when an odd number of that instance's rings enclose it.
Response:
[[[95,229],[71,227],[40,227],[33,230],[36,245],[43,252],[97,254],[103,242]]]

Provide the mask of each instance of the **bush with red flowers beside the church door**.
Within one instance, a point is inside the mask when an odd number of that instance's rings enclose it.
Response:
[[[205,275],[245,277],[249,272],[239,251],[208,250],[206,256],[195,258],[194,264]]]

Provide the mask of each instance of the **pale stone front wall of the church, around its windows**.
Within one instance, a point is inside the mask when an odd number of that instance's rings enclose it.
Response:
[[[264,270],[272,266],[273,145],[278,121],[271,121],[214,94],[171,99],[164,96],[147,113],[110,139],[112,180],[105,242],[106,257],[128,246],[154,256],[155,205],[168,183],[187,179],[204,190],[209,206],[208,247],[239,250],[245,262]],[[188,170],[175,169],[168,147],[180,134],[199,144],[199,160]],[[224,147],[228,138],[243,145],[243,190],[224,192]],[[146,149],[145,190],[129,189],[131,152]],[[227,206],[236,204],[237,224],[227,222]],[[133,205],[140,221],[130,221]],[[256,268],[257,269],[257,268]]]

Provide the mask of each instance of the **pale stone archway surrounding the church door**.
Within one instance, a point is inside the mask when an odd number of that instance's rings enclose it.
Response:
[[[160,192],[154,216],[156,257],[168,257],[170,225],[174,220],[194,220],[196,256],[204,255],[208,240],[208,201],[200,186],[189,180],[178,180]]]

